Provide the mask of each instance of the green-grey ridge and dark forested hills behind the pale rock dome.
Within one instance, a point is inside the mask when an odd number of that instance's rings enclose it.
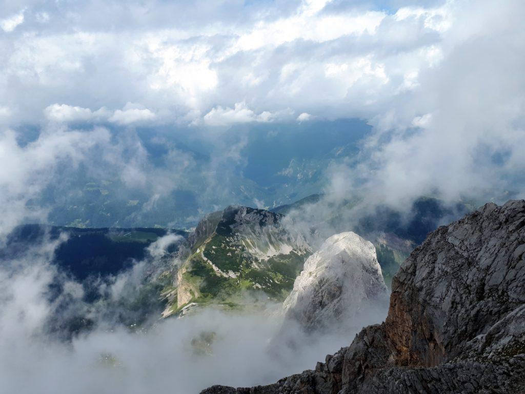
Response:
[[[322,201],[323,195],[316,194],[271,211],[232,205],[205,215],[190,232],[22,225],[9,235],[0,256],[12,259],[28,247],[62,236],[53,264],[60,275],[81,283],[84,295],[82,308],[76,307],[74,316],[58,326],[75,332],[89,329],[92,322],[86,316],[93,308],[111,309],[108,305],[125,310],[118,312],[121,323],[140,326],[155,315],[186,314],[202,306],[243,309],[282,302],[306,259],[341,231],[355,231],[373,243],[390,286],[400,264],[428,232],[469,209],[421,198],[408,215],[379,207],[349,221],[355,202],[343,202],[319,219],[311,212],[322,210]],[[306,229],[298,225],[305,219]],[[153,256],[149,249],[163,239],[167,245],[162,257]],[[119,275],[130,273],[137,262],[145,268],[131,296],[115,302],[107,290],[101,291],[102,285],[108,288]],[[60,294],[60,281],[56,283],[50,297]]]

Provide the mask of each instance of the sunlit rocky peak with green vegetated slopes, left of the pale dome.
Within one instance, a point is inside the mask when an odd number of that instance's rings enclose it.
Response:
[[[283,226],[282,218],[238,205],[205,216],[181,247],[177,296],[163,316],[190,303],[246,303],[247,291],[282,301],[310,254],[304,238]]]

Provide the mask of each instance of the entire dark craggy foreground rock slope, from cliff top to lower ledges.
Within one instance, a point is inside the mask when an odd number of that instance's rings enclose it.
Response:
[[[439,227],[393,279],[384,323],[315,370],[212,393],[525,392],[525,201]]]

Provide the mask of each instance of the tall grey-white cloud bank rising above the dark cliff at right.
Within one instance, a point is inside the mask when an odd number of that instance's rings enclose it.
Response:
[[[517,87],[525,86],[518,71],[525,67],[525,36],[513,22],[524,12],[517,2],[497,10],[451,5],[451,22],[439,23],[447,29],[439,66],[421,72],[416,88],[371,120],[369,160],[358,171],[369,172],[367,187],[376,196],[402,206],[421,194],[481,202],[505,191],[523,195],[525,96]],[[497,71],[501,61],[506,72]]]

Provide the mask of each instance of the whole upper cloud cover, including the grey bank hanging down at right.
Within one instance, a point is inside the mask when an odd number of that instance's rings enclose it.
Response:
[[[39,8],[63,21],[52,29],[26,11],[24,34],[14,30],[2,43],[0,102],[10,109],[2,123],[184,127],[303,121],[304,111],[356,117],[373,126],[361,174],[385,194],[396,185],[389,194],[396,198],[436,185],[456,196],[510,187],[525,125],[523,2],[407,3],[392,12],[324,1],[207,3],[209,13],[202,3],[155,1],[147,13],[135,3],[110,2],[102,13],[92,2],[81,13],[69,4]],[[176,28],[166,15],[178,18]],[[102,20],[116,27],[107,30]],[[142,106],[122,108],[123,99]],[[101,107],[107,112],[97,114]],[[506,160],[496,165],[481,157],[484,149]],[[140,173],[132,170],[129,179]]]

